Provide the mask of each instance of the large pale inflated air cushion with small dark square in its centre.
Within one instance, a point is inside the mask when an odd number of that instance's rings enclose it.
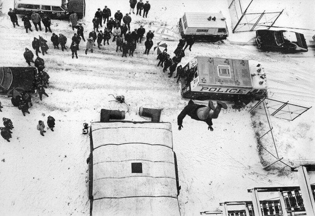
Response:
[[[93,215],[180,215],[170,123],[96,122],[91,131]]]

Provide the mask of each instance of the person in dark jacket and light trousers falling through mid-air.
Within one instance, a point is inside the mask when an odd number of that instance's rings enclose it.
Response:
[[[188,105],[180,112],[177,117],[178,130],[183,127],[183,119],[186,115],[189,115],[192,119],[197,121],[204,121],[208,124],[208,130],[213,131],[212,119],[217,119],[221,108],[227,109],[225,103],[217,101],[217,106],[213,105],[212,101],[209,101],[208,106],[199,105],[192,100],[188,102]]]

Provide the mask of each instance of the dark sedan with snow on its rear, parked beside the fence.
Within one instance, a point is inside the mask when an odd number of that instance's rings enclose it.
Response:
[[[307,52],[304,35],[297,32],[257,30],[256,41],[262,50]]]

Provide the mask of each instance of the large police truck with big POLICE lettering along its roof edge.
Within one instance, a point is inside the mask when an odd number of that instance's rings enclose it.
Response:
[[[181,95],[197,100],[259,100],[267,96],[267,79],[260,64],[248,60],[196,56],[184,67]]]

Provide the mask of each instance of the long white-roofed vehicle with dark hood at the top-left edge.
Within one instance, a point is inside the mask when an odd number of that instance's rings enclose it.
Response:
[[[16,14],[31,15],[33,11],[48,15],[52,19],[67,19],[70,12],[79,19],[85,16],[85,0],[14,0]]]

